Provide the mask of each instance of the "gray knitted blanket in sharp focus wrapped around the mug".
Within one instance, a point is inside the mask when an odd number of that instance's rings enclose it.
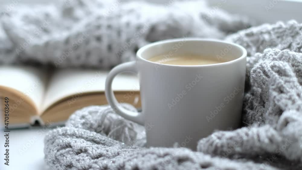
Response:
[[[108,106],[76,111],[45,137],[54,169],[302,169],[302,24],[264,24],[229,35],[247,49],[243,127],[185,148],[146,148],[142,126]],[[132,106],[124,107],[134,110]]]

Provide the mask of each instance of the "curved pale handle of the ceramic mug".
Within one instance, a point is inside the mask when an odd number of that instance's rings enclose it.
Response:
[[[121,105],[119,105],[118,101],[114,97],[114,93],[112,91],[112,81],[116,75],[122,72],[134,72],[137,73],[136,68],[136,61],[131,61],[127,63],[120,64],[116,67],[114,67],[106,78],[106,84],[105,84],[105,95],[107,98],[108,103],[113,108],[114,111],[116,111],[117,114],[119,114],[121,117],[124,117],[125,119],[131,120],[135,123],[138,123],[140,125],[144,125],[144,117],[142,113],[139,112],[133,112],[128,111],[125,108],[123,108]]]

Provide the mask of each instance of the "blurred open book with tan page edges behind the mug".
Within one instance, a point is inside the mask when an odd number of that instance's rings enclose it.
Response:
[[[47,122],[61,124],[77,109],[108,104],[105,79],[108,71],[1,66],[0,95],[2,116],[9,104],[9,127]],[[120,74],[112,84],[121,103],[140,106],[139,82],[134,74]],[[96,117],[97,118],[97,117]],[[4,119],[3,119],[4,120]]]

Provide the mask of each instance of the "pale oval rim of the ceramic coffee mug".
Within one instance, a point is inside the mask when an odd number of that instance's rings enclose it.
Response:
[[[242,59],[246,58],[246,56],[247,56],[246,49],[244,47],[242,47],[241,45],[236,44],[236,43],[227,42],[227,41],[218,40],[218,39],[212,39],[212,38],[186,38],[186,39],[187,39],[186,40],[187,42],[188,41],[202,41],[202,42],[217,42],[217,43],[230,44],[230,45],[238,47],[242,51],[242,55],[240,57],[236,58],[236,59],[231,60],[231,61],[227,61],[227,62],[223,62],[223,63],[207,64],[207,65],[172,65],[172,64],[163,64],[163,63],[155,63],[155,62],[149,61],[147,59],[144,59],[142,57],[142,53],[146,49],[148,49],[150,47],[153,47],[153,46],[156,46],[156,45],[160,45],[160,44],[165,44],[165,43],[173,43],[173,42],[177,43],[177,42],[181,42],[183,40],[183,38],[174,38],[174,39],[156,41],[156,42],[153,42],[153,43],[150,43],[150,44],[147,44],[147,45],[141,47],[137,51],[137,53],[136,53],[136,58],[140,59],[140,60],[142,60],[144,62],[150,63],[150,64],[156,64],[156,65],[159,65],[159,66],[166,66],[166,67],[211,67],[211,66],[230,65],[230,64],[238,62],[239,60],[242,60]]]

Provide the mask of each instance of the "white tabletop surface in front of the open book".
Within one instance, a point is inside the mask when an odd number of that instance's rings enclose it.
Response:
[[[44,163],[43,152],[44,136],[49,130],[46,128],[11,130],[9,132],[9,166],[5,165],[4,170],[49,170]],[[33,144],[30,144],[29,141]],[[26,145],[29,146],[27,150],[24,148]],[[20,153],[20,150],[23,149],[26,151]],[[2,154],[4,154],[3,151]]]

